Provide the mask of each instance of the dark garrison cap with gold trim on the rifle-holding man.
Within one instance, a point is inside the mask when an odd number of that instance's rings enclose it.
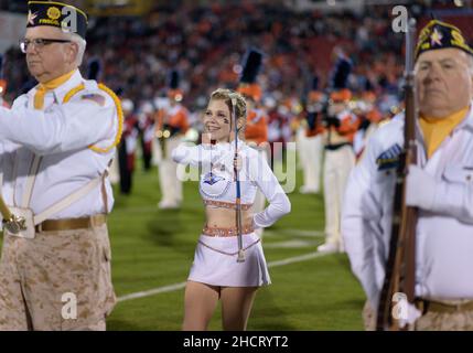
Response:
[[[432,20],[420,31],[416,46],[416,60],[427,51],[447,47],[456,47],[473,55],[473,49],[466,43],[459,28]]]

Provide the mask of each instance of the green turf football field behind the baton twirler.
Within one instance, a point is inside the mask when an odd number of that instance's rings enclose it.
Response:
[[[301,175],[298,174],[299,189]],[[204,224],[196,182],[184,183],[180,211],[160,211],[158,172],[137,170],[131,196],[120,195],[109,218],[117,297],[184,282]],[[258,291],[248,330],[362,330],[364,293],[345,255],[313,255],[324,224],[322,195],[289,194],[292,212],[267,229],[272,285]],[[276,261],[276,264],[275,264]],[[272,266],[272,265],[277,266]],[[119,301],[108,330],[180,330],[183,289]],[[221,330],[216,312],[211,330]]]

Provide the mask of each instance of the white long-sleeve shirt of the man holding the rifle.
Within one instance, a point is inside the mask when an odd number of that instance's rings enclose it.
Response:
[[[417,128],[418,165],[436,179],[430,210],[419,210],[416,231],[416,296],[473,299],[473,111],[427,160]],[[352,269],[377,306],[391,229],[396,159],[404,116],[375,131],[352,171],[342,234]]]

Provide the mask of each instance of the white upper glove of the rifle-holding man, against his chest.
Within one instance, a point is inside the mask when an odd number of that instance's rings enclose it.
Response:
[[[406,204],[431,210],[436,197],[436,179],[423,169],[410,164],[406,180]]]

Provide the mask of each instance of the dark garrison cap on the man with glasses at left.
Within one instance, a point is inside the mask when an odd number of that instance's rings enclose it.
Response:
[[[29,1],[26,28],[50,25],[85,39],[87,14],[76,7],[55,1]]]

